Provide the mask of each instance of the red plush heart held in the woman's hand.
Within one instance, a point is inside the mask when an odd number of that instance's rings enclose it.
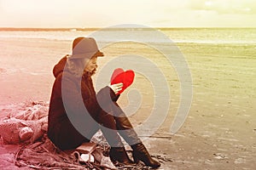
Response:
[[[117,68],[113,71],[112,77],[111,77],[111,84],[117,84],[119,82],[122,82],[124,84],[123,88],[119,91],[118,94],[121,94],[125,91],[126,88],[131,86],[131,83],[134,80],[134,71],[128,70],[124,71],[121,68]]]

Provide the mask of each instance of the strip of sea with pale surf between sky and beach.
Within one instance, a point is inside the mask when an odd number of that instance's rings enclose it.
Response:
[[[115,31],[120,35],[131,30],[138,33],[161,31],[173,42],[177,43],[212,43],[212,44],[243,44],[256,43],[256,28],[123,28],[107,30],[109,34]],[[87,36],[100,28],[90,29],[47,29],[47,28],[0,28],[0,38],[31,38],[72,41],[74,37]],[[142,35],[143,37],[143,35]],[[147,37],[144,37],[147,38]],[[102,39],[102,41],[111,41]]]

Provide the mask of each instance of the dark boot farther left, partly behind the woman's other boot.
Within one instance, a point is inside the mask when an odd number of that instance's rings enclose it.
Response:
[[[123,164],[131,164],[129,156],[125,151],[125,147],[112,147],[109,151],[109,157],[113,162],[120,162]]]

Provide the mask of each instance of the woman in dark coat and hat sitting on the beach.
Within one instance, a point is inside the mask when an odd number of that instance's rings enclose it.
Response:
[[[71,150],[89,142],[101,129],[111,146],[112,161],[131,163],[120,134],[131,145],[135,162],[160,167],[116,103],[123,84],[106,86],[96,94],[91,76],[96,72],[97,58],[102,56],[93,38],[78,37],[73,41],[73,54],[66,55],[55,65],[49,103],[49,139],[61,150]]]

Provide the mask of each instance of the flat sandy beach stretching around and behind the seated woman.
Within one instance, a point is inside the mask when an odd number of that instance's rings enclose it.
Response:
[[[17,41],[9,38],[1,39],[0,45],[3,48],[0,54],[0,111],[6,105],[26,101],[49,102],[54,81],[51,69],[62,55],[69,52],[70,43],[54,40]],[[170,125],[179,104],[179,82],[172,66],[165,66],[162,60],[155,61],[162,65],[165,75],[171,75],[166,77],[172,98],[164,123],[153,136],[143,138],[149,152],[153,156],[166,158],[166,161],[161,161],[162,169],[255,169],[255,48],[218,47],[212,44],[177,45],[188,61],[193,78],[192,105],[183,127],[177,133],[170,134]],[[32,54],[27,54],[27,50],[31,50]],[[140,54],[144,52],[140,51]],[[9,60],[9,53],[21,58],[12,56],[13,60]],[[116,48],[106,49],[105,54],[110,57],[113,57],[113,53],[118,54]],[[40,57],[47,58],[47,62],[45,59],[40,60]],[[149,57],[154,60],[151,55]],[[108,59],[102,59],[99,65],[108,62]],[[26,72],[33,69],[34,74]],[[146,113],[153,106],[154,94],[148,88],[149,85],[146,79],[137,76],[131,87],[140,89],[143,95],[142,106],[131,116],[135,126],[146,120]],[[123,96],[119,104],[125,106],[127,98],[125,94]],[[0,147],[0,168],[15,169],[9,155],[15,150],[15,145]]]

